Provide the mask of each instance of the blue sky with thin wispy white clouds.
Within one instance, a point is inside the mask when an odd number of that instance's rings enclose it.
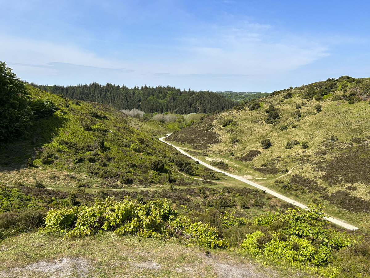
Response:
[[[0,0],[0,61],[38,84],[272,92],[370,77],[369,1]]]

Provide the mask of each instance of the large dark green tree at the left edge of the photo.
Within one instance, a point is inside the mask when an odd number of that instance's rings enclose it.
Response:
[[[0,62],[0,142],[23,134],[28,124],[28,93],[22,80]]]

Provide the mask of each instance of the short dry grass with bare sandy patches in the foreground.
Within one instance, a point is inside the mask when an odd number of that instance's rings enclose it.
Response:
[[[46,277],[50,272],[40,269],[48,262],[58,264],[62,258],[69,259],[65,269],[69,267],[75,274],[85,270],[83,277],[216,277],[230,271],[251,271],[256,277],[290,277],[293,273],[312,277],[291,267],[256,264],[248,255],[232,249],[215,249],[207,257],[203,248],[176,239],[162,241],[110,232],[67,241],[37,232],[8,238],[0,244],[0,271],[9,277]]]

